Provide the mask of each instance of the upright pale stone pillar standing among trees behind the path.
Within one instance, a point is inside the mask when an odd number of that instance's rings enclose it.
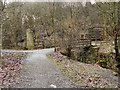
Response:
[[[33,49],[34,48],[34,36],[33,36],[33,31],[30,29],[26,30],[26,41],[27,45],[26,48]]]

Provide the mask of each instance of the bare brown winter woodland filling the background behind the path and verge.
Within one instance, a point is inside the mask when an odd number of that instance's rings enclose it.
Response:
[[[97,64],[119,76],[120,2],[0,1],[0,27],[3,50],[55,48],[68,59]]]

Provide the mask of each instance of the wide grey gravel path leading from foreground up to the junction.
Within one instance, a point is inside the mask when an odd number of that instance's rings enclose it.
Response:
[[[67,88],[70,81],[63,77],[46,54],[54,49],[28,51],[30,54],[25,60],[15,88]],[[12,51],[15,52],[15,51]]]

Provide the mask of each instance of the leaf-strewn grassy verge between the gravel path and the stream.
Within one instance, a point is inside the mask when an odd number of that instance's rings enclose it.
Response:
[[[54,62],[57,63],[63,75],[66,75],[72,80],[72,85],[75,87],[84,88],[117,88],[118,79],[112,79],[112,82],[104,78],[109,70],[103,69],[98,65],[85,64],[79,61],[68,59],[60,52],[50,54]],[[101,74],[102,73],[102,74]],[[111,73],[112,74],[112,73]],[[110,74],[110,75],[111,75]],[[107,74],[110,76],[109,74]],[[113,76],[114,77],[114,76]]]

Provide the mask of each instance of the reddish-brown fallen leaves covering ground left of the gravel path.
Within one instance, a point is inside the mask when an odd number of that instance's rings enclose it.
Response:
[[[22,69],[27,53],[2,53],[2,65],[0,66],[0,87],[10,88],[15,83],[18,71]]]

